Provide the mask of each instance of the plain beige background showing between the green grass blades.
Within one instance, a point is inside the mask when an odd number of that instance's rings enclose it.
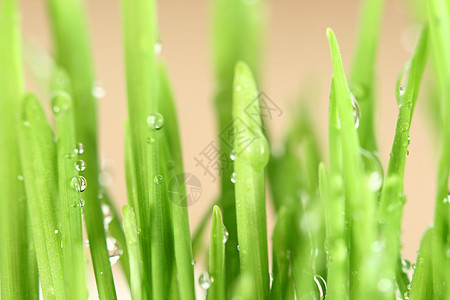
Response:
[[[23,24],[27,37],[46,49],[49,28],[43,0],[22,0]],[[100,101],[101,155],[108,158],[114,175],[111,186],[118,206],[126,202],[123,160],[123,120],[126,117],[123,53],[119,2],[89,0],[87,11],[91,28],[97,78],[106,89]],[[405,5],[388,0],[383,18],[378,59],[377,133],[381,160],[387,165],[395,128],[397,107],[394,97],[397,74],[409,58],[411,36],[417,26],[408,17]],[[197,175],[203,195],[190,207],[191,227],[195,228],[205,209],[217,195],[212,183],[195,167],[193,157],[216,139],[211,96],[213,93],[209,39],[208,1],[159,1],[162,37],[161,57],[167,62],[178,102],[185,169]],[[284,111],[270,124],[273,139],[280,141],[290,119],[289,111],[300,93],[309,93],[310,106],[326,146],[327,97],[332,74],[325,29],[334,29],[349,68],[354,49],[359,1],[356,0],[272,0],[264,56],[263,90]],[[33,85],[29,85],[33,88]],[[436,142],[430,134],[425,102],[421,97],[411,128],[405,192],[408,202],[403,222],[404,254],[415,260],[419,241],[431,224],[436,182]],[[325,148],[323,148],[325,149]],[[269,222],[271,227],[272,221]],[[269,234],[271,229],[269,229]]]

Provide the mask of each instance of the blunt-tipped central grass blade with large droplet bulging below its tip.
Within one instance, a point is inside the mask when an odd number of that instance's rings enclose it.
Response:
[[[262,130],[258,91],[248,66],[239,62],[233,84],[234,140],[236,158],[236,221],[241,273],[252,277],[257,299],[269,297],[267,229],[265,205],[265,167],[269,146]],[[250,107],[250,108],[249,108]],[[246,113],[251,109],[257,116]]]

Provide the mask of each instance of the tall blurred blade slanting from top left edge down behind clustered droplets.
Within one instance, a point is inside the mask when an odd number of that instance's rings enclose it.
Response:
[[[56,61],[67,72],[72,83],[77,142],[82,143],[86,150],[83,158],[87,168],[83,176],[89,187],[83,195],[83,212],[98,294],[100,299],[111,299],[115,298],[115,288],[98,199],[97,99],[92,94],[94,71],[84,7],[79,0],[47,0],[47,6]]]

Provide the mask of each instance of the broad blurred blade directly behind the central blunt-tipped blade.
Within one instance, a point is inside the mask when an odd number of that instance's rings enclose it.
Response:
[[[247,62],[256,78],[259,77],[265,6],[266,0],[251,3],[240,0],[211,0],[213,62],[216,80],[214,102],[219,136],[227,134],[226,128],[230,128],[233,121],[231,102],[236,63],[239,60]],[[234,186],[230,181],[233,162],[229,160],[233,141],[229,140],[227,143],[219,138],[218,142],[220,155],[224,158],[221,165],[220,206],[224,224],[230,233],[225,245],[226,282],[230,286],[239,274],[235,196]],[[208,211],[208,216],[210,214],[211,211]]]

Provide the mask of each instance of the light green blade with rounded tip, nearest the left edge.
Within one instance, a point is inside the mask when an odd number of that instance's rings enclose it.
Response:
[[[21,161],[42,294],[45,299],[64,299],[61,234],[57,224],[60,203],[57,201],[54,136],[39,100],[34,95],[25,96],[21,109]]]

